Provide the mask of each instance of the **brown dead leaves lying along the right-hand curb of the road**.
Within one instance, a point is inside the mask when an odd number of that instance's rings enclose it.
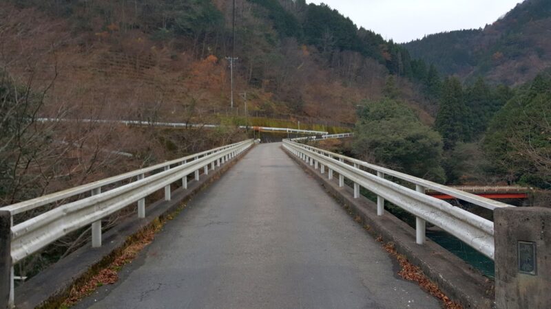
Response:
[[[396,260],[398,260],[398,263],[400,264],[401,270],[398,272],[398,275],[408,281],[417,282],[419,286],[423,290],[425,290],[427,293],[430,293],[430,295],[433,295],[437,299],[440,299],[442,303],[444,303],[444,308],[446,309],[462,309],[463,307],[454,301],[452,301],[449,297],[447,297],[436,284],[431,282],[423,273],[421,268],[418,266],[415,266],[411,264],[408,259],[402,255],[397,253],[394,243],[388,242],[383,246],[383,248],[386,250],[386,252],[393,255]]]

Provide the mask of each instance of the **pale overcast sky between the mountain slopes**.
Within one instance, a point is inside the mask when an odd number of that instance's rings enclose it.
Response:
[[[306,0],[326,3],[358,26],[404,43],[425,34],[484,27],[522,0]]]

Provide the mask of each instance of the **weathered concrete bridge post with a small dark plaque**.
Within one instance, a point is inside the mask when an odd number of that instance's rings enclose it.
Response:
[[[494,211],[497,308],[551,308],[551,209]]]

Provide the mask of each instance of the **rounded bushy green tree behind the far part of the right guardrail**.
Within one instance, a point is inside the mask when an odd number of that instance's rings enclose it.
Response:
[[[385,98],[358,111],[353,152],[413,176],[444,182],[442,138],[402,102]]]

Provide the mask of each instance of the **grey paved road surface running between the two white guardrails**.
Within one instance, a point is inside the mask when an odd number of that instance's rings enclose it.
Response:
[[[257,146],[80,308],[439,308],[281,144]]]

